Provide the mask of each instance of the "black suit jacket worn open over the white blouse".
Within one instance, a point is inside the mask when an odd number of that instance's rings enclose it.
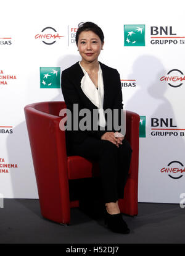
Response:
[[[110,109],[120,109],[120,112],[123,112],[123,104],[122,104],[122,92],[121,92],[121,81],[120,75],[116,69],[112,69],[101,62],[99,62],[102,69],[102,75],[104,80],[104,110],[107,108]],[[81,90],[81,79],[83,78],[84,73],[81,69],[78,62],[73,66],[65,69],[62,72],[61,78],[61,88],[64,96],[65,104],[67,108],[73,114],[73,104],[78,104],[78,110],[83,108],[88,108],[91,111],[93,109],[97,109],[97,107],[89,100],[89,98],[83,93]],[[83,117],[81,117],[83,118]],[[119,116],[119,124],[121,114]],[[72,118],[73,119],[73,118]],[[106,116],[105,116],[106,119]],[[80,117],[79,117],[80,120]],[[106,119],[107,121],[107,119]],[[92,137],[96,137],[97,139],[101,139],[101,136],[107,132],[107,127],[105,130],[71,130],[66,131],[67,144],[69,143],[80,143],[82,142],[88,135]],[[110,131],[110,130],[109,130]],[[111,131],[115,132],[114,129]]]

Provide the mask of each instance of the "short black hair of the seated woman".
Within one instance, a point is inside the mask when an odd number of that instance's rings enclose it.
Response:
[[[96,25],[93,22],[84,22],[84,23],[80,23],[78,30],[76,32],[76,45],[78,44],[78,38],[81,32],[83,31],[92,31],[94,32],[96,35],[99,36],[99,38],[101,39],[101,42],[104,43],[104,33],[102,32],[101,28],[98,27],[98,25]]]

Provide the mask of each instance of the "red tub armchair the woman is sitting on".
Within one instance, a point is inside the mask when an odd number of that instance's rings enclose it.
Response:
[[[41,214],[68,224],[70,208],[78,207],[78,201],[70,202],[68,180],[92,177],[96,164],[81,156],[67,156],[65,131],[59,129],[59,113],[64,108],[64,101],[50,101],[27,105],[24,110]],[[138,215],[139,120],[138,114],[126,111],[126,139],[133,155],[125,198],[118,203],[120,211],[131,216]]]

